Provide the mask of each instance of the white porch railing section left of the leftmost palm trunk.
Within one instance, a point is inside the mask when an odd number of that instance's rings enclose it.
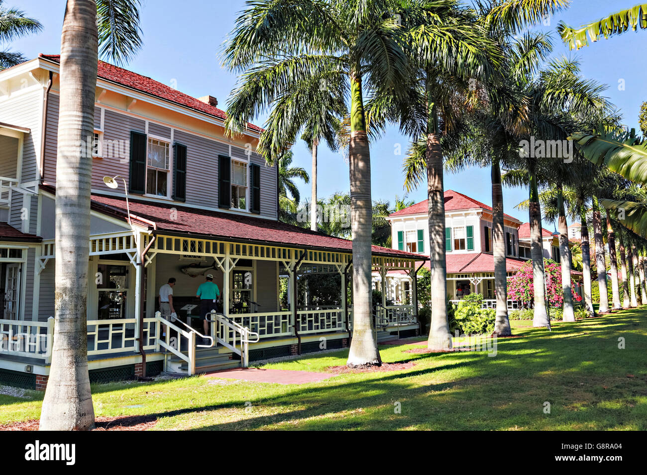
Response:
[[[0,354],[51,361],[54,317],[46,322],[0,320]]]

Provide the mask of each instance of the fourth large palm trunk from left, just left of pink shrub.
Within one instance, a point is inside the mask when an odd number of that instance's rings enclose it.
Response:
[[[492,253],[494,254],[494,292],[496,293],[496,320],[494,335],[512,335],[508,319],[508,276],[505,266],[503,238],[503,191],[499,160],[492,161]]]

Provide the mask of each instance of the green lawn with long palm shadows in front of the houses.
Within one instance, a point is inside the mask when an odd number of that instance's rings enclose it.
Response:
[[[647,428],[646,310],[556,322],[550,333],[529,321],[512,324],[521,337],[499,339],[495,357],[410,354],[403,350],[412,346],[384,346],[383,361],[415,366],[309,385],[205,377],[94,385],[94,409],[97,416],[157,414],[155,430]],[[626,349],[618,348],[619,337]],[[263,367],[322,371],[345,364],[346,354]],[[0,423],[38,418],[42,394],[31,394],[31,401],[0,396]]]

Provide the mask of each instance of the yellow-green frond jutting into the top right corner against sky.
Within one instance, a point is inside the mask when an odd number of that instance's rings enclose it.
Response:
[[[560,36],[562,36],[564,43],[567,43],[571,50],[573,48],[580,49],[589,45],[589,41],[586,36],[587,33],[589,34],[591,41],[595,42],[602,36],[609,38],[611,36],[622,34],[628,31],[630,26],[633,31],[636,31],[638,26],[644,30],[647,28],[647,22],[644,21],[644,17],[646,15],[647,5],[639,4],[626,10],[615,12],[608,17],[601,18],[593,23],[582,25],[576,29],[566,25],[564,22],[560,22],[557,30]]]

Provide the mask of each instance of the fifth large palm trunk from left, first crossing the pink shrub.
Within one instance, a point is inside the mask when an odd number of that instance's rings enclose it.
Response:
[[[534,293],[534,318],[532,326],[549,326],[546,310],[545,278],[543,275],[542,210],[539,204],[539,190],[534,164],[529,161],[530,174],[529,218],[530,218],[530,255],[532,258],[532,291]]]

